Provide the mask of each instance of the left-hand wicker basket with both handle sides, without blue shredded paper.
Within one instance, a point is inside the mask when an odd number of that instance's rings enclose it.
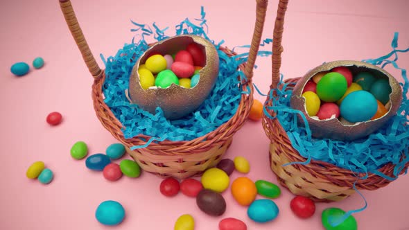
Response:
[[[102,125],[121,143],[127,146],[127,151],[132,158],[139,163],[139,166],[147,172],[152,172],[160,177],[186,178],[200,175],[209,167],[215,166],[220,161],[221,156],[226,152],[232,143],[232,138],[246,121],[252,106],[252,75],[256,54],[259,51],[261,34],[263,32],[264,20],[266,18],[267,0],[256,0],[256,23],[252,37],[252,44],[247,63],[239,68],[247,76],[247,82],[243,82],[242,87],[250,87],[250,94],[243,94],[238,105],[236,114],[218,129],[193,139],[192,141],[161,141],[150,143],[148,147],[137,150],[130,150],[134,145],[143,145],[144,140],[150,136],[134,136],[132,139],[125,139],[121,132],[122,124],[116,119],[110,108],[104,103],[102,86],[105,80],[105,71],[101,70],[96,63],[89,46],[85,41],[82,30],[76,19],[76,15],[69,0],[60,0],[60,8],[67,21],[67,25],[73,38],[80,49],[82,57],[87,64],[89,72],[94,76],[92,85],[92,100],[96,116]],[[227,55],[235,55],[228,48],[220,48]]]

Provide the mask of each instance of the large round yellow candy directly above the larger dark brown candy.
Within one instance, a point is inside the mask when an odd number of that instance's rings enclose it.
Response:
[[[230,179],[227,173],[218,168],[209,168],[202,175],[203,188],[221,193],[229,187]]]

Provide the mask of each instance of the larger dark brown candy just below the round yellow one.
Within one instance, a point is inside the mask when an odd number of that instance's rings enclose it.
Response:
[[[208,215],[220,216],[226,211],[226,201],[223,195],[210,189],[200,191],[196,196],[196,204],[200,210]]]

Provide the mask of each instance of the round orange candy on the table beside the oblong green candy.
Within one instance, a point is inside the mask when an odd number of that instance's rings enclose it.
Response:
[[[238,204],[249,206],[256,199],[256,184],[247,177],[238,177],[232,183],[232,195]]]

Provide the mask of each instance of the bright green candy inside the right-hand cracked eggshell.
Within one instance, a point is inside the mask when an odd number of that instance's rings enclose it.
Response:
[[[321,100],[331,103],[342,98],[347,88],[347,79],[341,73],[331,72],[317,83],[317,95]]]

